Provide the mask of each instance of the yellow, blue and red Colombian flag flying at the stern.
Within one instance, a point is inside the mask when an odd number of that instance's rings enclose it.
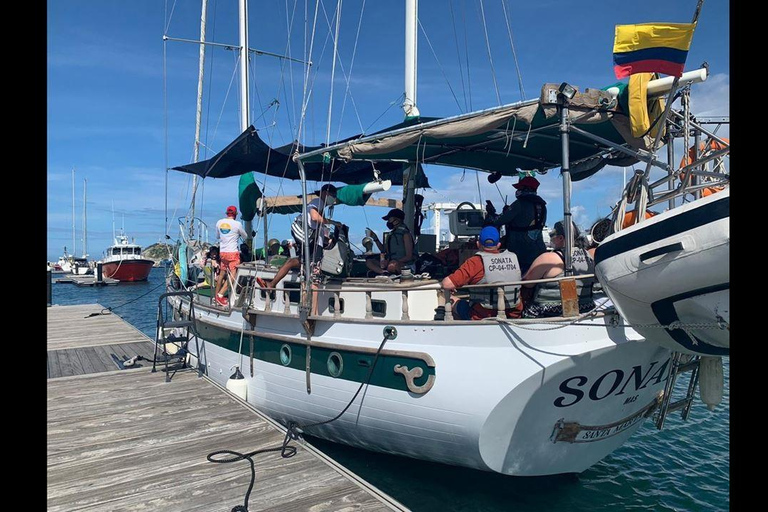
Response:
[[[613,70],[616,78],[634,73],[681,76],[695,23],[616,25]]]

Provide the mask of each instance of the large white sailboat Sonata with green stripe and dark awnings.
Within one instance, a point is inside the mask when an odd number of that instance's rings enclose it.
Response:
[[[349,186],[387,172],[403,187],[412,228],[424,163],[507,176],[518,168],[560,168],[570,215],[572,178],[621,165],[628,155],[649,159],[647,141],[626,136],[621,98],[566,82],[544,84],[535,100],[422,118],[413,72],[415,1],[406,11],[407,122],[322,147],[271,148],[244,110],[243,132],[227,148],[175,169],[213,178],[254,170],[299,180],[304,218],[308,180]],[[247,37],[240,45],[245,56]],[[247,58],[241,63],[247,80]],[[571,238],[566,253],[572,244]],[[256,286],[275,267],[239,265],[225,307],[181,280],[168,281],[175,318],[192,320],[201,343],[192,364],[221,385],[233,366],[245,367],[245,399],[293,432],[505,475],[552,475],[585,471],[646,419],[661,428],[666,414],[682,409],[685,417],[693,403],[693,374],[685,398],[671,397],[678,376],[697,367],[696,357],[648,340],[616,307],[579,314],[564,304],[568,316],[542,321],[507,319],[501,306],[499,317],[456,320],[439,280],[323,272],[318,282],[304,248],[301,272],[275,289]],[[557,280],[579,277],[589,276]],[[497,288],[503,298],[505,287],[520,282],[476,286]],[[442,304],[446,314],[436,319]]]

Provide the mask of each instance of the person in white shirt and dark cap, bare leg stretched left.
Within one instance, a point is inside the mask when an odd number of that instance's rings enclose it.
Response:
[[[323,185],[315,194],[317,197],[307,204],[307,222],[302,222],[301,214],[299,214],[291,224],[291,234],[296,240],[297,256],[287,259],[270,281],[257,277],[256,283],[260,288],[276,288],[277,284],[288,275],[288,272],[301,267],[301,260],[304,258],[304,243],[309,243],[309,259],[312,263],[317,263],[323,258],[323,247],[326,242],[325,230],[327,229],[325,225],[339,224],[323,215],[325,207],[332,206],[336,202],[336,187],[328,183]],[[307,225],[309,225],[309,229],[306,229],[305,226]]]

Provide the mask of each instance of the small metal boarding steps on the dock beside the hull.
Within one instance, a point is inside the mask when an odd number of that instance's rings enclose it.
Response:
[[[178,319],[174,319],[174,315],[170,314],[172,311],[168,301],[165,299],[172,296],[186,296],[189,298],[189,314],[186,319],[183,318],[181,303],[179,303],[179,309],[176,314]],[[197,358],[198,377],[203,375],[202,366],[200,365],[200,346],[197,329],[195,328],[195,303],[193,297],[194,294],[191,291],[167,292],[160,295],[157,301],[157,331],[155,334],[155,354],[152,357],[152,372],[157,371],[158,363],[164,363],[165,368],[162,371],[165,372],[165,382],[170,382],[171,378],[179,370],[194,370],[192,366],[187,365],[188,345],[192,337],[195,338],[195,354],[193,355]],[[163,304],[166,305],[165,309]],[[166,330],[175,330],[177,328],[183,329],[181,336],[176,336],[173,332],[166,336]],[[175,351],[169,352],[168,345],[175,347]]]

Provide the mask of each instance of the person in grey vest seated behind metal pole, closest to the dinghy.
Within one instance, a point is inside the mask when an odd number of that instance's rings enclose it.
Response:
[[[573,275],[594,274],[595,261],[592,259],[589,250],[586,249],[587,242],[580,236],[576,225],[571,223],[571,226],[573,226],[573,237],[575,239],[575,247],[573,248],[573,256],[571,258]],[[549,232],[549,238],[555,250],[539,255],[531,264],[528,272],[523,276],[524,281],[549,279],[565,275],[565,255],[563,254],[563,249],[565,248],[565,229],[562,221],[555,223],[554,229]],[[592,285],[594,282],[594,277],[576,280],[579,313],[585,313],[595,308],[595,302],[592,300]],[[525,284],[523,285],[523,297],[525,301],[524,318],[546,318],[562,316],[563,314],[560,283],[558,281]]]

